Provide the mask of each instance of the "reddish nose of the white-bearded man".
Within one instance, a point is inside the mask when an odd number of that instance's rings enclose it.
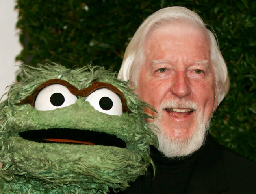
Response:
[[[170,92],[177,97],[185,97],[191,94],[189,78],[185,72],[178,72],[171,81]]]

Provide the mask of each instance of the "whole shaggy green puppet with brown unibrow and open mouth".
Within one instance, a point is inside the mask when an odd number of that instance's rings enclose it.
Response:
[[[108,193],[147,173],[157,137],[126,82],[95,66],[21,69],[0,104],[0,193]]]

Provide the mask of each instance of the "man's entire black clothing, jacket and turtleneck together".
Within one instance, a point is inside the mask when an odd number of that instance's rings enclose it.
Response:
[[[184,158],[169,159],[154,147],[150,155],[155,176],[149,167],[146,176],[119,194],[256,193],[256,164],[219,145],[210,134],[204,146]]]

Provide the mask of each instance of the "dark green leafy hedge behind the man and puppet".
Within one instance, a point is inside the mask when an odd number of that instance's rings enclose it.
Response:
[[[82,67],[90,61],[118,71],[141,22],[163,7],[197,12],[215,31],[230,72],[230,92],[211,134],[256,161],[256,1],[253,0],[17,0],[24,49],[17,60]]]

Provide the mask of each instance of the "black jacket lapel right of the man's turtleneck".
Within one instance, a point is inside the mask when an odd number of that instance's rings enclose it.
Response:
[[[208,134],[202,153],[198,157],[187,190],[217,194],[228,189],[221,146]]]

